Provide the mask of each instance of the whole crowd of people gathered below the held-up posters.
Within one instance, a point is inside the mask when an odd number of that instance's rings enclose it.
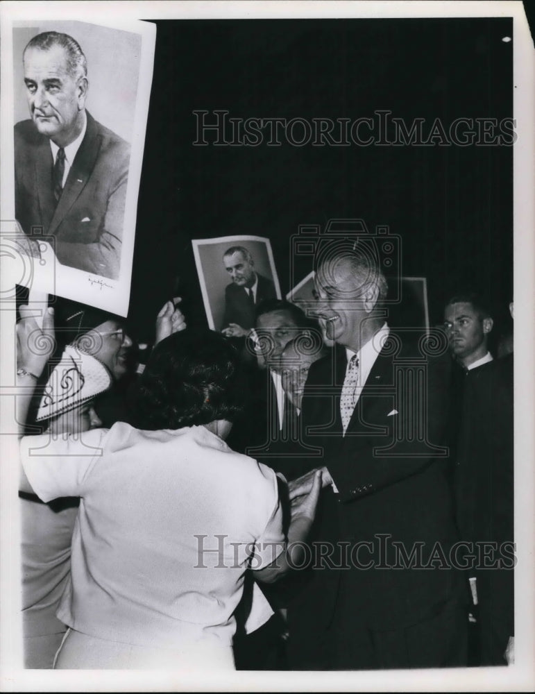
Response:
[[[142,373],[119,316],[56,299],[40,327],[19,306],[27,668],[511,661],[513,371],[491,312],[453,296],[409,340],[358,246],[314,282],[307,315],[266,298],[239,337],[169,301]]]

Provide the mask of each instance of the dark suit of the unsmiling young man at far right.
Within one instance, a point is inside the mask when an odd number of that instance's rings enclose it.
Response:
[[[513,609],[513,357],[495,359],[464,376],[455,496],[461,539],[497,543],[502,568],[468,570],[477,579],[481,664],[504,665],[514,634]]]

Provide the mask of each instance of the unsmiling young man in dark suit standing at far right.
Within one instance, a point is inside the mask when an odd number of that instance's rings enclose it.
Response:
[[[512,317],[512,304],[509,310]],[[459,534],[477,550],[466,566],[477,620],[473,659],[505,665],[514,634],[513,357],[492,358],[493,321],[475,294],[452,298],[445,319],[465,371],[453,373],[451,459]],[[483,557],[484,545],[496,551]]]

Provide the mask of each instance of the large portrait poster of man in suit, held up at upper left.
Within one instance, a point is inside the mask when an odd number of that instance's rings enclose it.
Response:
[[[37,274],[53,266],[44,291],[112,302],[117,312],[128,301],[152,71],[146,42],[155,40],[153,26],[137,24],[36,20],[12,30],[17,232]]]

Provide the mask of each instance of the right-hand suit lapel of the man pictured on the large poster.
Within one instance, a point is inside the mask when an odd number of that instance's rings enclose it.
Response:
[[[53,234],[85,188],[99,157],[100,142],[94,119],[87,113],[87,128],[76,157],[65,181],[65,188],[53,214],[49,233]]]

